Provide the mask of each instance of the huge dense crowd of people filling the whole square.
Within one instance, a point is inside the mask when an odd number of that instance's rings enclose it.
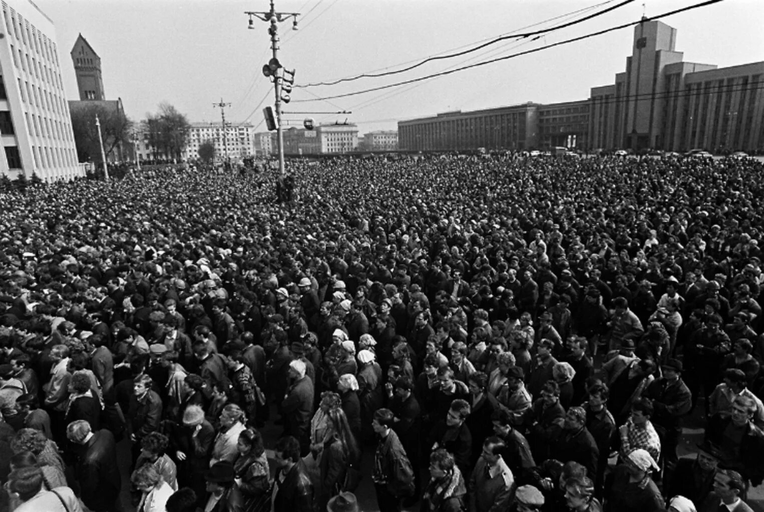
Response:
[[[0,192],[0,510],[751,510],[761,163],[288,167]]]

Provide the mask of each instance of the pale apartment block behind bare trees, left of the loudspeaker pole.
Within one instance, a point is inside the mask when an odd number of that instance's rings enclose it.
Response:
[[[199,146],[207,141],[215,144],[216,161],[225,159],[226,153],[231,160],[254,156],[254,126],[251,123],[238,124],[228,121],[225,124],[224,134],[222,123],[191,123],[183,158],[199,158]]]

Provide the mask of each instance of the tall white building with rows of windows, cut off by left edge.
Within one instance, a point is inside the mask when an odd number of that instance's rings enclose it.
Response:
[[[30,0],[2,2],[0,172],[41,179],[84,175],[77,163],[53,21]]]

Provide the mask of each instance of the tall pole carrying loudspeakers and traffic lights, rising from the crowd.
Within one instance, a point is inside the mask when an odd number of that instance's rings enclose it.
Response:
[[[297,12],[277,12],[274,0],[270,0],[270,11],[267,12],[255,12],[246,11],[244,14],[249,16],[249,27],[254,29],[254,18],[261,21],[270,21],[270,27],[268,27],[268,34],[270,34],[270,50],[273,51],[273,58],[263,66],[263,74],[267,77],[273,76],[274,79],[274,94],[276,97],[276,140],[279,150],[279,175],[283,178],[284,171],[284,140],[283,130],[281,130],[281,102],[289,103],[289,92],[292,91],[292,84],[294,82],[294,70],[289,71],[283,69],[281,76],[278,74],[278,70],[282,68],[278,59],[279,50],[279,36],[278,36],[278,23],[280,21],[286,21],[289,18],[293,18],[292,29],[297,30]],[[285,74],[290,75],[290,79],[286,79]],[[286,84],[284,83],[286,82]],[[286,95],[282,95],[286,92]]]

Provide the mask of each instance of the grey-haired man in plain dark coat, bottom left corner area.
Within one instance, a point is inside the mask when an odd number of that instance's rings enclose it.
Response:
[[[118,510],[122,482],[114,435],[107,429],[94,433],[86,420],[76,420],[66,427],[66,437],[81,446],[74,466],[79,498],[93,512]]]

